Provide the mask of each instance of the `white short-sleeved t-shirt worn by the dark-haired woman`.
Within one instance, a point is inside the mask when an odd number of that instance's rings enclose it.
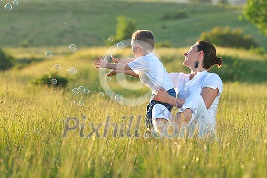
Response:
[[[177,98],[186,99],[190,94],[201,94],[203,88],[218,88],[219,92],[212,105],[207,110],[212,120],[215,120],[220,94],[223,91],[221,78],[215,73],[209,73],[206,70],[198,72],[191,80],[190,74],[170,73],[170,78],[174,84]]]

